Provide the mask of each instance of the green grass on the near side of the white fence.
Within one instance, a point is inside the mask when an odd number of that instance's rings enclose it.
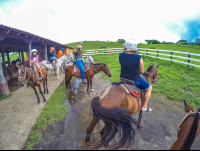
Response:
[[[95,63],[108,63],[112,77],[108,78],[111,82],[120,81],[120,64],[116,59],[119,54],[96,55],[93,56]],[[158,77],[155,84],[152,84],[152,95],[165,94],[170,99],[183,101],[186,99],[193,107],[200,107],[200,76],[199,68],[186,65],[154,59],[142,56],[144,59],[145,71],[150,63],[158,67]]]

